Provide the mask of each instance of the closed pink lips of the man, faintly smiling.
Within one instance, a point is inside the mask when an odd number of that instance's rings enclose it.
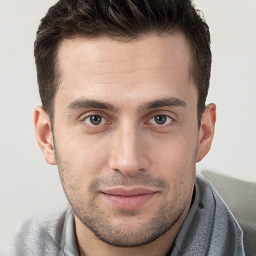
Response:
[[[132,189],[111,188],[101,191],[101,194],[108,203],[124,210],[134,210],[143,206],[152,199],[156,193],[156,191],[141,187]]]

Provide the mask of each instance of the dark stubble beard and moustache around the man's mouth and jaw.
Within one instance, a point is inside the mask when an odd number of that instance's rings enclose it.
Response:
[[[81,194],[79,185],[72,182],[77,180],[76,177],[72,176],[72,171],[68,171],[70,166],[59,157],[56,147],[54,148],[54,153],[63,190],[74,214],[96,237],[107,244],[117,247],[136,247],[150,243],[169,230],[180,218],[187,204],[190,203],[191,196],[190,194],[184,195],[183,188],[180,185],[183,183],[181,181],[180,184],[175,184],[176,189],[172,194],[172,200],[165,199],[149,220],[142,221],[138,225],[133,221],[133,217],[136,215],[135,211],[119,210],[118,216],[122,214],[125,221],[115,221],[114,223],[111,221],[113,214],[106,213],[104,209],[97,205],[95,199],[97,198],[97,193],[95,191],[99,184],[156,185],[165,187],[166,191],[169,185],[163,179],[155,179],[143,172],[129,178],[118,172],[111,177],[95,178],[87,191],[87,194],[90,194],[90,199],[86,202],[82,200],[84,195]],[[190,171],[195,172],[195,163]],[[150,210],[150,208],[146,210]],[[130,221],[127,221],[128,218],[130,218]]]

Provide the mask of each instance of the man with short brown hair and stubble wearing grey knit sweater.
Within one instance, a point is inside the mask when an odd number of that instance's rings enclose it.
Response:
[[[60,0],[34,45],[38,144],[70,206],[37,216],[17,255],[244,255],[195,175],[209,151],[207,24],[189,0]]]

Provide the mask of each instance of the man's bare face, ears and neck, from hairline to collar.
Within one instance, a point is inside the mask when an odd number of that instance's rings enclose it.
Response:
[[[40,106],[34,124],[74,210],[81,255],[165,255],[215,124],[211,103],[198,128],[184,35],[64,39],[58,59],[54,137]]]

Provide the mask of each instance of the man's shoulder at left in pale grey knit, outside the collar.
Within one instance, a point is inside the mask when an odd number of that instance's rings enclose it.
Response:
[[[17,234],[8,238],[3,255],[59,255],[69,209],[70,206],[51,208],[33,215]]]

